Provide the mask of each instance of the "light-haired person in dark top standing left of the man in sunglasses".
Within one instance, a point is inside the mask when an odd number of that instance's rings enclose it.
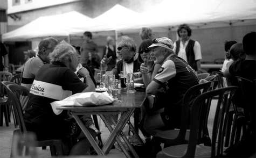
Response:
[[[103,48],[103,56],[107,56],[107,59],[111,57],[109,62],[107,63],[107,71],[111,71],[116,64],[116,52],[115,52],[115,45],[114,45],[114,39],[110,36],[107,37],[107,45]]]

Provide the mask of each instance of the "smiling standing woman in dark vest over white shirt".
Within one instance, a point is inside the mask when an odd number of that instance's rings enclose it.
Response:
[[[179,25],[177,30],[179,40],[175,42],[173,51],[197,72],[201,68],[202,53],[199,42],[190,39],[191,32],[188,25]]]

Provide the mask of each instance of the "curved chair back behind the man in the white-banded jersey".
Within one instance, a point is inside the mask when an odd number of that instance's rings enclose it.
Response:
[[[20,104],[19,97],[20,95],[29,95],[29,90],[22,85],[17,84],[9,84],[7,85],[7,92],[8,96],[11,98],[11,103],[13,107],[13,111],[15,114],[15,118],[17,120],[17,124],[19,126],[20,132],[27,133],[24,118],[23,118],[23,111],[22,105]]]

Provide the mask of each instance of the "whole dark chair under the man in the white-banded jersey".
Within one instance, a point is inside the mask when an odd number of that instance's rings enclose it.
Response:
[[[21,85],[9,84],[7,85],[7,92],[8,92],[8,96],[11,98],[15,119],[17,120],[17,127],[13,131],[13,135],[16,135],[17,133],[26,135],[27,130],[24,123],[24,119],[23,119],[23,111],[19,101],[19,96],[21,94],[29,95],[29,90],[27,90],[25,87]],[[63,155],[62,141],[59,139],[36,141],[35,146],[36,147],[50,146],[52,156]],[[11,157],[12,157],[12,153],[11,153]]]

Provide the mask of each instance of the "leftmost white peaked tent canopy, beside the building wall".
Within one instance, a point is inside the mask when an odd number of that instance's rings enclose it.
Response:
[[[16,30],[3,34],[4,41],[23,41],[49,36],[67,37],[73,32],[81,32],[75,26],[84,25],[92,19],[72,11],[54,16],[39,17]]]

